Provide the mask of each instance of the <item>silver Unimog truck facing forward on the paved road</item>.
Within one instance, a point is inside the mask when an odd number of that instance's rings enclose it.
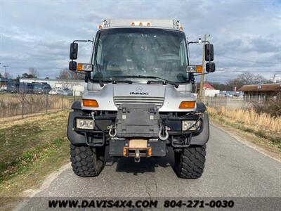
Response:
[[[76,63],[79,41],[93,44],[90,63]],[[68,118],[72,169],[96,177],[109,155],[163,157],[174,151],[178,177],[204,170],[209,120],[192,93],[202,65],[190,64],[188,46],[204,44],[206,71],[214,72],[213,45],[188,42],[178,20],[104,20],[93,40],[70,45],[70,70],[85,72],[87,90]]]

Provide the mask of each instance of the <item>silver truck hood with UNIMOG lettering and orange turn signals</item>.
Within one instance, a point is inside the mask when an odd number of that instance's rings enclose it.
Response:
[[[194,109],[179,109],[182,101],[195,101],[195,94],[192,94],[171,84],[106,84],[99,87],[95,84],[93,89],[86,91],[83,98],[95,99],[99,107],[95,110],[117,110],[122,103],[130,104],[155,104],[161,112],[192,111]],[[183,85],[185,87],[185,85]],[[93,110],[82,105],[82,109]]]

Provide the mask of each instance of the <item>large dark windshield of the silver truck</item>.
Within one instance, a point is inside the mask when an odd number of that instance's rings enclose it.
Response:
[[[91,78],[118,81],[132,76],[186,82],[185,35],[175,30],[115,28],[98,34]]]

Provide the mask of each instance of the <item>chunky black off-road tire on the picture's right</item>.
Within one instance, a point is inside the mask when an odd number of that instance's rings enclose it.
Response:
[[[175,152],[175,165],[178,177],[185,179],[200,178],[204,171],[206,144],[203,146],[184,148]]]

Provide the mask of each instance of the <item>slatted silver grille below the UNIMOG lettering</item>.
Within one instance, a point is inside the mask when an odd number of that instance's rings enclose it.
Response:
[[[158,108],[163,106],[164,98],[162,97],[148,97],[148,96],[115,96],[115,105],[121,104],[155,104]]]

